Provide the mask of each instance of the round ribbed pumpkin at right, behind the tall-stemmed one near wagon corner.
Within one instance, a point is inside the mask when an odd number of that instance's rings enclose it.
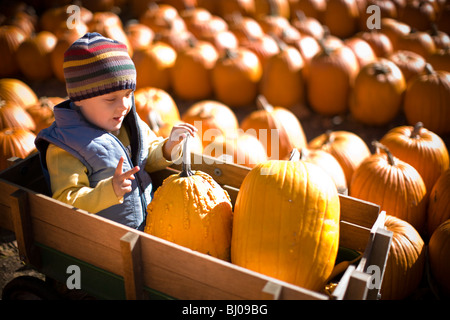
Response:
[[[449,167],[449,153],[445,142],[421,122],[414,126],[391,129],[380,140],[392,154],[412,165],[422,176],[427,192]]]

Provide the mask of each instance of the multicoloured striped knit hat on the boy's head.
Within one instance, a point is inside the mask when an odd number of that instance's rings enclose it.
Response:
[[[63,69],[73,101],[136,89],[136,68],[127,46],[99,33],[86,33],[76,40],[64,53]]]

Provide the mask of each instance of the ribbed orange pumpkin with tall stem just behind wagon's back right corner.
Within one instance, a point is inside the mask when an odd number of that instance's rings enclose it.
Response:
[[[428,198],[422,177],[381,143],[374,142],[374,146],[375,153],[353,173],[350,196],[378,204],[380,210],[423,233]]]

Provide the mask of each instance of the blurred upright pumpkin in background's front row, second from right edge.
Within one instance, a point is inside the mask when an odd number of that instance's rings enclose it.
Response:
[[[406,82],[400,69],[385,58],[362,67],[355,79],[349,108],[367,125],[386,125],[399,114]]]

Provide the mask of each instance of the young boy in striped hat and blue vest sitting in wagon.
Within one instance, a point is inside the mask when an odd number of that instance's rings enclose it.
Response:
[[[69,99],[36,137],[53,198],[142,230],[152,196],[148,172],[180,156],[189,124],[156,137],[137,115],[136,69],[127,47],[87,33],[64,54]]]

